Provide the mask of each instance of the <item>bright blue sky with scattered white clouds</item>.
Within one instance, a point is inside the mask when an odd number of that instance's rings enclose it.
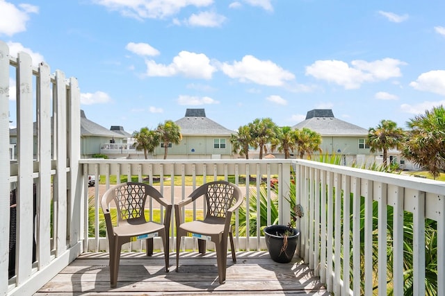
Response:
[[[156,128],[187,108],[230,130],[325,108],[406,128],[445,105],[444,12],[445,1],[0,0],[0,40],[76,77],[81,108],[105,128]]]

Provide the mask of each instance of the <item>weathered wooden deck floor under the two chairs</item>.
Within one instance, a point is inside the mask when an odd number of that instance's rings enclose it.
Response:
[[[268,252],[238,252],[227,261],[225,284],[218,282],[216,253],[170,254],[165,272],[163,253],[123,253],[118,286],[110,288],[108,253],[82,254],[35,295],[330,295],[298,258],[275,263]]]

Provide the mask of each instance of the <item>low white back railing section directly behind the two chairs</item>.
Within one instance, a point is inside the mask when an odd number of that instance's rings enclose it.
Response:
[[[229,180],[229,176],[233,177],[234,182],[241,187],[244,193],[246,192],[259,192],[261,186],[266,187],[267,198],[274,198],[273,190],[270,188],[270,179],[272,177],[278,177],[279,180],[279,192],[281,196],[289,196],[289,181],[290,181],[290,167],[291,162],[285,161],[284,159],[272,159],[270,161],[266,160],[141,160],[141,159],[81,159],[81,164],[83,164],[83,173],[86,175],[95,175],[96,180],[99,176],[104,180],[105,189],[108,189],[111,184],[110,180],[121,180],[121,176],[126,177],[126,180],[136,179],[138,182],[147,182],[154,185],[154,176],[158,182],[156,182],[155,187],[165,196],[169,198],[170,202],[179,202],[186,198],[188,194],[197,186],[202,184],[202,180]],[[262,179],[257,176],[262,176]],[[171,182],[174,180],[175,176],[179,178],[178,182]],[[192,184],[186,185],[186,176],[192,177]],[[165,183],[165,179],[168,178],[168,184]],[[242,178],[242,180],[241,180]],[[254,178],[254,184],[250,184]],[[197,181],[199,179],[200,181]],[[89,238],[88,244],[85,244],[85,251],[97,252],[99,250],[108,250],[108,243],[106,243],[106,237],[99,237],[97,230],[99,229],[99,200],[104,193],[99,190],[99,186],[95,186],[94,195],[90,197],[90,205],[95,207],[95,221],[94,229],[96,231],[95,237]],[[86,189],[88,190],[88,189]],[[88,192],[85,193],[88,195]],[[249,204],[250,195],[246,195],[246,204]],[[259,199],[257,199],[259,200]],[[282,202],[287,202],[286,199],[282,199]],[[196,216],[197,209],[204,209],[205,205],[195,204],[193,208],[193,216]],[[151,209],[151,208],[150,208]],[[290,211],[289,205],[287,207],[281,207],[283,213],[280,215],[282,221],[289,221]],[[87,209],[85,209],[87,210]],[[151,211],[150,211],[151,212]],[[259,211],[257,211],[259,221]],[[174,219],[172,219],[173,221]],[[269,219],[270,221],[270,219]],[[249,226],[249,221],[247,226]],[[87,225],[85,223],[84,225]],[[170,227],[172,243],[170,246],[175,245],[175,237],[173,234],[173,225]],[[260,223],[257,223],[257,232],[255,234],[247,234],[245,237],[240,237],[238,235],[238,225],[236,227],[236,245],[238,250],[264,250],[266,244],[264,242],[264,237],[261,237]],[[265,225],[262,225],[265,226]],[[249,229],[249,227],[247,227]],[[88,229],[85,229],[87,232]],[[260,234],[260,235],[259,235]],[[155,247],[161,249],[161,241],[155,239]],[[190,240],[186,239],[184,242],[184,248],[190,250],[193,248],[192,238]],[[136,243],[138,244],[138,243]],[[143,243],[136,247],[135,243],[127,244],[128,250],[143,250]]]

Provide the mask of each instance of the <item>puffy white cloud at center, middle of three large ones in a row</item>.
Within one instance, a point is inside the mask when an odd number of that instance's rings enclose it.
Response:
[[[223,63],[223,72],[240,82],[254,82],[259,85],[279,87],[286,81],[295,79],[293,73],[282,69],[270,60],[258,60],[252,55],[245,55],[241,62]]]

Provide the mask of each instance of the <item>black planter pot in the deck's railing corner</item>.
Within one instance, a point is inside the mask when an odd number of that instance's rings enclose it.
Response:
[[[291,231],[291,235],[284,236],[286,231]],[[267,250],[270,258],[278,263],[289,263],[295,253],[298,236],[300,232],[295,228],[289,228],[286,225],[270,225],[264,228]],[[286,243],[286,247],[284,247]]]

